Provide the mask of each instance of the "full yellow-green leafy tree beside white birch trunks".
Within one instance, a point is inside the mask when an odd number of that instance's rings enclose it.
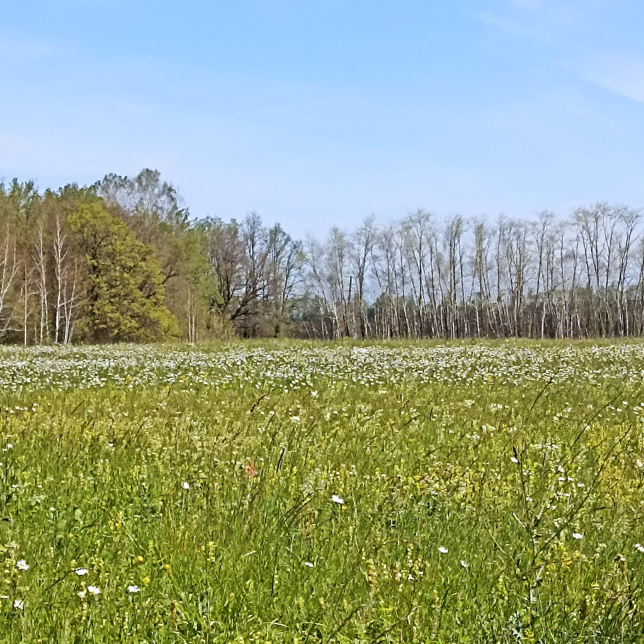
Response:
[[[86,317],[79,332],[99,342],[149,341],[176,334],[154,248],[139,242],[99,204],[81,205],[67,223],[88,267]]]

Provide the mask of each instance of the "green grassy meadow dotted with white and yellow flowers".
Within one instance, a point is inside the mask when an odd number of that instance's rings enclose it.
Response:
[[[644,641],[644,345],[0,348],[0,643]]]

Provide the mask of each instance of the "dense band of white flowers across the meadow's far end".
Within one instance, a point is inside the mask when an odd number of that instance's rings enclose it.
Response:
[[[497,383],[585,381],[604,386],[635,382],[644,371],[644,345],[606,346],[343,346],[267,349],[233,345],[219,352],[194,348],[167,349],[142,345],[0,347],[0,389],[128,388],[155,384],[222,386],[242,381],[278,389],[308,388],[318,377],[374,386],[386,393],[392,386],[415,383]],[[249,375],[252,374],[252,375]],[[470,406],[473,401],[464,401]],[[623,408],[627,407],[623,405]],[[623,408],[612,409],[622,413]],[[10,409],[23,413],[33,410]],[[505,407],[489,404],[490,413]],[[639,410],[641,412],[641,410]],[[297,416],[293,422],[298,422]],[[7,448],[5,448],[7,449]],[[643,462],[639,459],[639,462]]]

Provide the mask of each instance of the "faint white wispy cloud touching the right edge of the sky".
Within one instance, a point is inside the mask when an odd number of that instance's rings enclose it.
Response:
[[[615,94],[644,103],[644,59],[628,53],[604,54],[587,66],[583,77]]]

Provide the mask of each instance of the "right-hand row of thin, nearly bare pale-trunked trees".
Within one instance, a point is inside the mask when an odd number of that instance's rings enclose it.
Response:
[[[419,210],[308,239],[305,326],[319,337],[641,336],[640,212],[437,220]]]

